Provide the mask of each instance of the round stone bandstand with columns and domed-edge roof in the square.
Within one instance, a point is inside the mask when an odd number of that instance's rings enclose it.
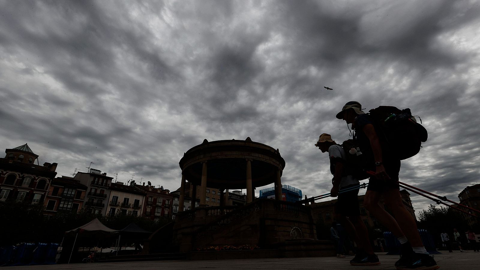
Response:
[[[251,245],[283,252],[281,256],[328,253],[330,244],[316,240],[310,207],[282,200],[285,160],[278,149],[253,142],[250,137],[205,139],[184,153],[180,168],[180,207],[173,229],[173,245],[180,252],[194,253],[205,246]],[[193,185],[192,199],[197,198],[200,186],[200,204],[194,207],[193,203],[192,209],[183,211],[187,181]],[[255,198],[256,187],[272,183],[275,199]],[[220,206],[206,207],[207,187],[221,191]],[[246,189],[246,205],[225,205],[229,189]]]

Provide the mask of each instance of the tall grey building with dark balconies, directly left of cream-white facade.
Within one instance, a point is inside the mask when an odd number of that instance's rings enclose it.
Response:
[[[104,215],[108,207],[107,198],[110,196],[108,187],[113,177],[108,177],[106,172],[90,169],[89,172],[77,172],[73,178],[88,187],[84,209],[90,213]]]

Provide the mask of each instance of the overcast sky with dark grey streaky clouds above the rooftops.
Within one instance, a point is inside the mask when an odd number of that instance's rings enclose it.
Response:
[[[310,197],[332,178],[314,144],[349,138],[335,115],[357,100],[420,115],[429,139],[400,179],[457,201],[479,181],[479,14],[475,0],[0,0],[0,147],[28,143],[58,176],[94,162],[175,190],[188,149],[250,136]]]

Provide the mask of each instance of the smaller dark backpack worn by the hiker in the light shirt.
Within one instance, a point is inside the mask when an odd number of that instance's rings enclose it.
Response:
[[[361,181],[370,177],[366,173],[368,168],[368,160],[360,150],[360,145],[354,139],[348,139],[342,143],[342,148],[345,151],[345,173],[352,175],[357,180]]]

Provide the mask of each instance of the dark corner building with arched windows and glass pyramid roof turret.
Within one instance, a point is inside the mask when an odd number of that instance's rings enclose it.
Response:
[[[43,204],[48,187],[57,175],[57,163],[36,165],[38,155],[27,144],[5,149],[5,153],[5,158],[0,159],[0,202]]]

